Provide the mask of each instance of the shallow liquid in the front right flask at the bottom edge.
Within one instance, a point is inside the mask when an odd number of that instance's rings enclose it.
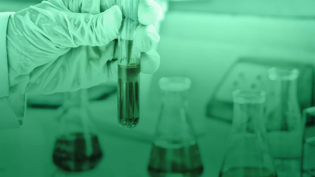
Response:
[[[219,177],[277,177],[275,172],[266,168],[235,167],[220,173]]]

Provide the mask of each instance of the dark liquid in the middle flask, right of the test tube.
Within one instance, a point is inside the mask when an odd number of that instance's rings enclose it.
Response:
[[[200,177],[203,164],[198,145],[153,144],[148,172],[151,177],[176,177],[178,174],[182,177]]]

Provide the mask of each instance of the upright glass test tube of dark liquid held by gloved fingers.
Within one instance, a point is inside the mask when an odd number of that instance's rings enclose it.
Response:
[[[118,0],[123,12],[118,35],[118,124],[134,128],[139,123],[140,52],[134,47],[139,1]]]

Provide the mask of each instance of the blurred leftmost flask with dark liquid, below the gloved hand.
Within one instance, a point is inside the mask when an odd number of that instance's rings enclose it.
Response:
[[[94,169],[103,153],[90,122],[87,91],[65,93],[53,162],[65,172]]]

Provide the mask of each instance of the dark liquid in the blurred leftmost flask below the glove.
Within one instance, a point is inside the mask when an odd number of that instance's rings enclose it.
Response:
[[[87,140],[89,138],[92,152],[87,154]],[[94,169],[103,157],[96,135],[72,133],[58,137],[54,153],[54,164],[68,172],[81,172]]]

